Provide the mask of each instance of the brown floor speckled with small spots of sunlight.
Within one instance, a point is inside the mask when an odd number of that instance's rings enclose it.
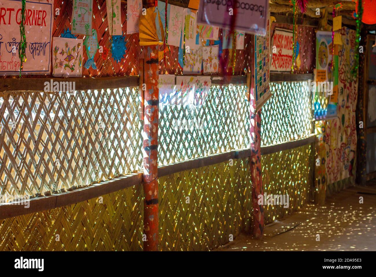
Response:
[[[364,199],[359,203],[359,197]],[[317,234],[320,241],[317,241]],[[264,228],[264,238],[241,234],[214,251],[376,251],[376,180],[306,205]]]

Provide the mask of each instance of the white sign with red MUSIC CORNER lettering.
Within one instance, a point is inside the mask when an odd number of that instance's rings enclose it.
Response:
[[[290,72],[293,62],[293,31],[275,28],[271,49],[270,71]]]

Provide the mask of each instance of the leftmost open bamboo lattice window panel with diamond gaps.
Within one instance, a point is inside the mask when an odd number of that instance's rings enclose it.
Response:
[[[141,169],[138,89],[0,98],[0,195],[86,185]]]

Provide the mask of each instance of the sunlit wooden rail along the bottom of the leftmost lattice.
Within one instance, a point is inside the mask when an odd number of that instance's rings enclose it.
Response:
[[[23,214],[35,213],[37,211],[50,210],[71,204],[76,204],[88,199],[96,198],[108,193],[122,190],[134,185],[141,185],[143,182],[143,173],[132,173],[126,176],[100,182],[85,188],[78,188],[62,193],[54,193],[49,196],[41,196],[29,199],[29,203],[10,202],[0,204],[0,220],[21,216]],[[26,208],[27,205],[29,208]]]

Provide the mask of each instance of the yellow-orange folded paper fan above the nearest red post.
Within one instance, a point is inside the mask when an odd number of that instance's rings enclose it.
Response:
[[[159,28],[161,29],[161,38],[158,37],[157,28],[155,26],[155,18],[158,16]],[[140,45],[156,45],[163,44],[163,25],[159,12],[155,12],[155,7],[146,10],[146,15],[141,15],[139,21],[139,39]]]

